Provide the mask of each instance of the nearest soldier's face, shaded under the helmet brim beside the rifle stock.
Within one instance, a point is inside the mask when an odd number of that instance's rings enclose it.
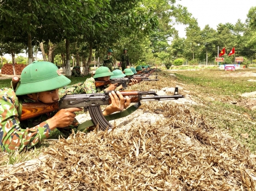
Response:
[[[59,100],[59,89],[28,94],[28,97],[34,99],[35,101],[50,104]]]

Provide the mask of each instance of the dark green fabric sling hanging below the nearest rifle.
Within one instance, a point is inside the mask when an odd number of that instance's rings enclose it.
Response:
[[[126,117],[126,116],[129,116],[129,114],[135,112],[139,108],[139,106],[141,106],[140,102],[136,103],[135,105],[132,105],[132,106],[128,107],[124,111],[109,114],[108,116],[104,116],[104,117],[108,122],[109,122],[109,120],[114,120],[114,119],[119,119],[119,118],[122,118],[122,117]],[[83,131],[84,129],[88,128],[89,126],[94,126],[92,119],[87,120],[86,122],[83,122],[80,125],[78,125],[77,130]]]

